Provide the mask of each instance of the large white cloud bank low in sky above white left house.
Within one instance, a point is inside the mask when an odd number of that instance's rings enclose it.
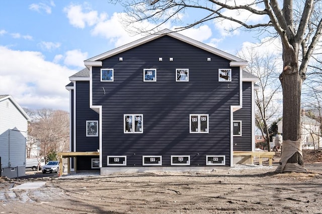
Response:
[[[0,94],[10,94],[22,106],[68,110],[65,85],[76,71],[48,62],[40,52],[0,46]]]

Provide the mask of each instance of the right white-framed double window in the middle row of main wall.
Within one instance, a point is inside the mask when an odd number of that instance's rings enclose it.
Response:
[[[190,114],[190,133],[209,133],[209,114]]]

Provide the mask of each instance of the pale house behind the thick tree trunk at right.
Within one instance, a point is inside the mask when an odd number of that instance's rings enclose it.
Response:
[[[277,123],[278,132],[283,133],[283,119]],[[301,143],[303,149],[318,149],[322,147],[320,123],[314,119],[301,116]]]

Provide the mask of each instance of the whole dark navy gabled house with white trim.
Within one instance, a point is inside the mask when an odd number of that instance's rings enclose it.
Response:
[[[77,169],[191,170],[232,166],[254,151],[247,62],[164,30],[85,61],[69,78]],[[73,167],[73,166],[72,166]]]

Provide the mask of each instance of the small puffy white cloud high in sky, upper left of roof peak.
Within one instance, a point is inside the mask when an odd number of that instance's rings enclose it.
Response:
[[[97,11],[92,11],[87,5],[69,5],[64,8],[64,12],[67,14],[69,24],[81,29],[107,19],[107,14],[102,13],[99,16]]]

